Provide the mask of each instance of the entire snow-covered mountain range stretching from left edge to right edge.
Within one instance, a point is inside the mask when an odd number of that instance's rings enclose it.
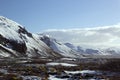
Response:
[[[33,34],[22,25],[0,16],[0,57],[74,57],[85,55],[119,55],[120,50],[85,49],[45,34]]]

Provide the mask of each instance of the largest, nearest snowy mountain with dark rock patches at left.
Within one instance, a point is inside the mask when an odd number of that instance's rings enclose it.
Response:
[[[0,16],[0,57],[60,56],[49,48],[36,34],[22,25]]]

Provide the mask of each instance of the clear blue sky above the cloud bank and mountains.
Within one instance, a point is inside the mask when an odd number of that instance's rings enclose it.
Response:
[[[120,0],[0,0],[0,15],[31,32],[120,23]]]

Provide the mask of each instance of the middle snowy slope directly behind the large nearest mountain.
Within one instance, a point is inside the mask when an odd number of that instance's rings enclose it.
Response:
[[[74,49],[71,49],[70,47],[66,46],[65,44],[57,41],[56,39],[50,37],[49,35],[39,34],[40,39],[45,42],[53,51],[59,53],[62,56],[65,57],[82,57],[81,54],[79,54]]]

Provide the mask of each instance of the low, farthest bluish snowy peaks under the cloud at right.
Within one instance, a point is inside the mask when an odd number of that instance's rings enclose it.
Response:
[[[118,48],[107,48],[107,49],[91,49],[91,48],[83,48],[80,46],[74,46],[71,43],[65,43],[65,45],[78,53],[84,55],[120,55],[120,49]]]

